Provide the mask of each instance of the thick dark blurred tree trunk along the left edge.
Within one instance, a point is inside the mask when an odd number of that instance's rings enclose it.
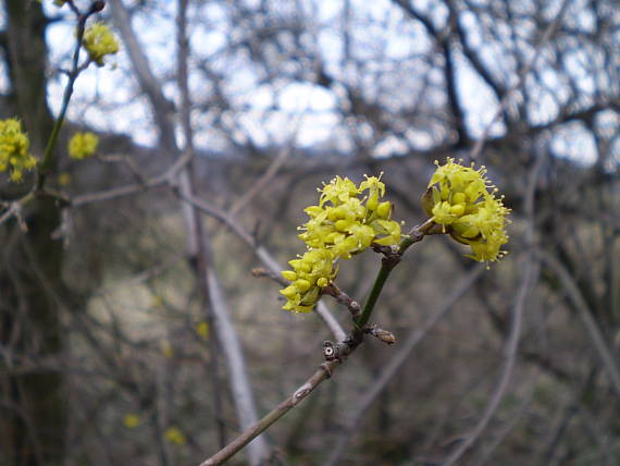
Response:
[[[8,101],[40,159],[53,124],[47,105],[47,20],[36,1],[4,0],[4,8]],[[62,244],[51,237],[60,209],[51,198],[38,197],[23,213],[27,232],[14,220],[0,230],[0,365],[9,373],[0,378],[0,463],[57,465],[65,430],[63,376],[42,365],[55,366],[62,350],[59,305],[52,298],[62,289]]]

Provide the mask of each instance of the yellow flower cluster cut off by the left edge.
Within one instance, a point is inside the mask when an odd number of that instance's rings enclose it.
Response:
[[[30,142],[16,119],[0,121],[0,172],[10,172],[11,181],[21,181],[25,170],[32,170],[37,159],[28,152]]]

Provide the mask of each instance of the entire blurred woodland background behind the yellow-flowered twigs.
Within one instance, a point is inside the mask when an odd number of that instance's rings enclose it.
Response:
[[[618,464],[615,1],[107,3],[91,20],[123,47],[76,82],[45,195],[0,173],[2,465],[218,451],[350,319],[284,312],[250,271],[303,253],[336,174],[384,172],[420,224],[446,157],[506,194],[510,254],[478,271],[443,237],[412,250],[380,303],[397,343],[369,339],[237,464]],[[74,29],[66,5],[1,3],[0,118],[39,160]],[[100,147],[76,161],[85,130]],[[377,267],[360,255],[337,284],[362,303]]]

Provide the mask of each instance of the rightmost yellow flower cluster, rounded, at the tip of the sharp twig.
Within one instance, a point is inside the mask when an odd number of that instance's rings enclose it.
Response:
[[[474,170],[448,158],[439,165],[429,183],[423,198],[426,213],[452,238],[471,247],[468,255],[478,261],[494,261],[504,254],[499,248],[508,242],[503,198],[486,179],[484,167]]]

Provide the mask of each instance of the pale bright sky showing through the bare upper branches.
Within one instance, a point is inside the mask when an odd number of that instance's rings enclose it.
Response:
[[[78,4],[79,1],[77,0]],[[368,53],[373,53],[373,46],[381,41],[384,46],[382,50],[388,59],[385,63],[395,63],[395,75],[397,73],[406,75],[408,70],[401,63],[407,62],[408,58],[414,57],[417,53],[424,53],[429,47],[432,47],[430,40],[425,38],[424,34],[421,34],[421,26],[410,21],[401,21],[401,11],[395,9],[388,0],[351,1],[351,10],[355,11],[356,21],[360,24],[368,24],[368,27],[355,29],[352,40],[362,45],[362,53],[365,50],[364,47],[368,47]],[[49,14],[58,14],[58,8],[51,3],[51,0],[44,1],[46,11]],[[82,4],[85,3],[82,2]],[[174,72],[175,3],[160,0],[156,3],[157,8],[151,8],[147,14],[138,15],[134,22],[134,27],[138,32],[141,42],[146,45],[150,64],[159,76],[171,75]],[[281,2],[284,9],[294,3]],[[190,11],[190,19],[196,20],[191,22],[190,44],[193,50],[197,51],[197,57],[209,57],[210,53],[216,57],[220,50],[227,46],[231,19],[226,11],[228,7],[224,4],[223,2],[209,2],[206,3],[200,13],[197,10]],[[339,26],[343,17],[343,2],[321,1],[311,3],[300,1],[298,4],[301,9],[307,10],[305,11],[306,14],[312,14],[318,19],[312,25],[315,28],[312,33],[317,40],[310,47],[319,49],[320,54],[325,58],[327,70],[333,70],[338,75],[355,73],[355,70],[342,68],[344,48]],[[419,1],[416,4],[426,11],[435,24],[441,25],[446,21],[447,12],[439,3]],[[67,14],[69,10],[65,7],[61,12]],[[553,14],[554,12],[550,11],[551,17]],[[67,17],[71,16],[67,14]],[[2,21],[4,19],[0,16],[0,22]],[[483,44],[484,37],[476,33],[474,19],[466,14],[462,21],[471,33],[471,46],[479,47]],[[584,27],[590,27],[588,25],[592,23],[592,19],[587,15],[583,15],[583,20],[580,21]],[[73,48],[73,28],[72,21],[57,22],[49,27],[50,63],[57,69],[69,68]],[[484,53],[487,60],[497,66],[498,73],[501,73],[503,69],[504,72],[509,72],[516,66],[514,63],[500,59],[498,53],[501,53],[501,50],[486,47]],[[584,63],[590,57],[584,53],[585,51],[576,51],[574,54],[568,56],[567,61],[574,70],[583,70],[583,79],[580,79],[579,83],[585,91],[594,84],[591,75],[586,73],[586,63]],[[248,64],[247,59],[243,57],[216,59],[213,63],[215,68],[220,66],[222,73],[227,73],[226,90],[233,96],[233,102],[244,108],[241,112],[235,115],[236,121],[231,123],[243,130],[239,131],[239,137],[243,133],[247,133],[258,146],[269,146],[287,143],[295,135],[296,144],[302,147],[336,146],[343,150],[350,148],[344,143],[346,137],[343,137],[346,131],[338,113],[339,99],[343,97],[338,95],[338,88],[326,89],[307,81],[290,83],[276,79],[275,86],[263,84],[260,81],[262,77],[260,73],[251,64]],[[469,62],[459,54],[457,54],[456,66],[459,75],[457,90],[467,109],[466,123],[470,133],[478,137],[495,113],[498,102],[486,84],[470,68]],[[364,72],[367,71],[364,70]],[[0,76],[2,70],[0,70]],[[372,77],[372,73],[368,74]],[[562,83],[558,82],[558,77],[553,71],[543,73],[543,78],[554,91],[561,88]],[[50,103],[54,111],[58,111],[60,107],[64,83],[64,77],[57,77],[50,84]],[[199,105],[204,100],[204,96],[210,89],[204,88],[204,78],[197,72],[190,73],[189,84],[191,94],[196,96],[196,101]],[[371,85],[373,84],[371,83]],[[367,84],[363,85],[367,86]],[[4,77],[0,78],[0,89],[2,86],[5,88]],[[377,86],[381,88],[379,83]],[[176,88],[172,83],[166,84],[163,91],[171,100],[178,100]],[[394,93],[394,106],[398,106],[400,96],[409,89],[390,89],[388,87],[387,89],[382,88],[381,91],[387,95],[387,101],[389,101],[389,93]],[[416,89],[412,88],[410,91],[414,93]],[[561,96],[561,93],[559,95]],[[551,98],[550,93],[541,89],[537,103],[537,107],[531,112],[533,120],[538,119],[540,122],[545,122],[557,113],[557,103]],[[70,119],[74,121],[85,121],[101,131],[128,134],[137,144],[147,146],[153,145],[157,136],[149,115],[147,101],[138,93],[123,48],[119,54],[108,60],[106,66],[91,65],[79,76],[75,86],[75,97],[69,111]],[[209,130],[208,113],[195,111],[193,118],[197,128],[195,142],[197,147],[209,150],[224,150],[226,148],[226,142],[221,134]],[[298,132],[295,134],[297,128]],[[359,132],[363,137],[364,128],[360,127]],[[503,132],[503,125],[497,124],[493,127],[491,135],[497,136]],[[424,134],[424,131],[417,131],[411,139],[416,140],[418,148],[427,148],[433,142],[430,134],[432,134],[431,130],[427,134]],[[181,134],[178,137],[179,143],[183,143]],[[590,132],[579,124],[555,134],[551,146],[558,155],[580,160],[584,164],[592,163],[595,160],[594,140],[590,136]],[[393,136],[375,144],[374,150],[375,156],[381,157],[406,151],[407,145]]]

